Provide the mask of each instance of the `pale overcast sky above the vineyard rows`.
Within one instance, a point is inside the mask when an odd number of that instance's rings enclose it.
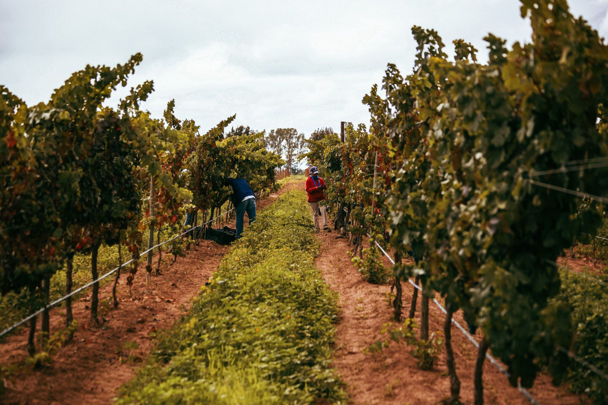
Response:
[[[570,6],[608,36],[608,0]],[[154,80],[143,106],[154,117],[174,98],[202,132],[232,114],[257,130],[339,131],[369,122],[361,99],[387,63],[410,72],[413,25],[472,42],[480,60],[488,32],[530,38],[517,0],[0,0],[0,84],[35,104],[86,64],[141,52],[129,87]]]

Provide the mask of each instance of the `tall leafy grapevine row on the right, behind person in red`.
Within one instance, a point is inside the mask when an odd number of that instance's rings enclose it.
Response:
[[[371,127],[348,125],[344,142],[309,141],[307,157],[320,162],[336,228],[350,233],[354,254],[364,256],[368,234],[395,252],[395,320],[401,281],[423,288],[427,341],[429,297],[444,298],[448,403],[460,402],[449,332],[456,311],[483,336],[476,404],[487,350],[514,386],[548,372],[606,403],[608,284],[557,261],[581,235],[598,236],[605,217],[608,47],[565,0],[521,2],[531,43],[508,48],[489,34],[487,63],[460,39],[452,59],[435,30],[413,27],[413,72],[389,64],[382,91],[364,97]],[[370,242],[365,254],[374,249]]]

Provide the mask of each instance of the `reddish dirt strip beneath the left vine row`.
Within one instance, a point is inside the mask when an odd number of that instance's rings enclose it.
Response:
[[[299,183],[288,183],[278,194]],[[271,194],[257,203],[264,209],[277,200]],[[233,221],[232,221],[233,224]],[[246,225],[247,226],[247,225]],[[112,283],[100,288],[100,318],[102,327],[85,328],[89,319],[90,294],[74,302],[74,318],[78,330],[74,339],[64,345],[49,367],[20,373],[5,381],[7,391],[0,397],[3,404],[108,404],[117,389],[130,379],[148,353],[151,337],[157,330],[173,325],[190,307],[190,299],[198,294],[213,271],[218,267],[229,246],[202,240],[192,245],[175,264],[161,265],[162,275],[153,277],[145,287],[145,268],[142,265],[133,282],[133,298],[129,298],[125,277],[121,278],[117,295],[119,308],[110,309]],[[164,255],[166,259],[168,256]],[[154,257],[156,264],[157,256]],[[64,309],[50,313],[51,333],[64,325]],[[129,349],[125,344],[130,346]],[[0,363],[12,364],[26,358],[27,330],[9,336],[0,345]]]

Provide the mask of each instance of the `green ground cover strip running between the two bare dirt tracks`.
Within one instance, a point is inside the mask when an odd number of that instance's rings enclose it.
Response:
[[[303,191],[264,209],[117,403],[345,400],[331,369],[337,296],[314,268]]]

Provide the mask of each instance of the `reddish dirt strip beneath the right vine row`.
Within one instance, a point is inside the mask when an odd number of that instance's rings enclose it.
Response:
[[[391,342],[381,355],[362,353],[365,347],[381,336],[382,324],[390,322],[391,309],[387,294],[390,285],[373,285],[362,281],[347,255],[347,240],[336,239],[337,233],[320,233],[322,243],[316,267],[325,281],[339,293],[342,314],[337,324],[334,367],[347,383],[351,403],[355,404],[437,404],[449,396],[444,350],[438,357],[435,370],[423,371],[416,367],[416,359],[404,344]],[[386,262],[389,265],[388,262]],[[409,313],[413,287],[403,284],[404,314]],[[430,332],[443,331],[444,315],[429,304]],[[420,298],[416,318],[420,324]],[[455,318],[461,323],[460,314]],[[481,336],[476,336],[480,341]],[[455,327],[452,327],[452,345],[461,381],[461,398],[473,403],[473,370],[477,349]],[[486,404],[529,404],[530,402],[488,361],[484,370]],[[565,389],[551,386],[547,376],[540,376],[532,395],[542,404],[578,404],[578,397]]]

